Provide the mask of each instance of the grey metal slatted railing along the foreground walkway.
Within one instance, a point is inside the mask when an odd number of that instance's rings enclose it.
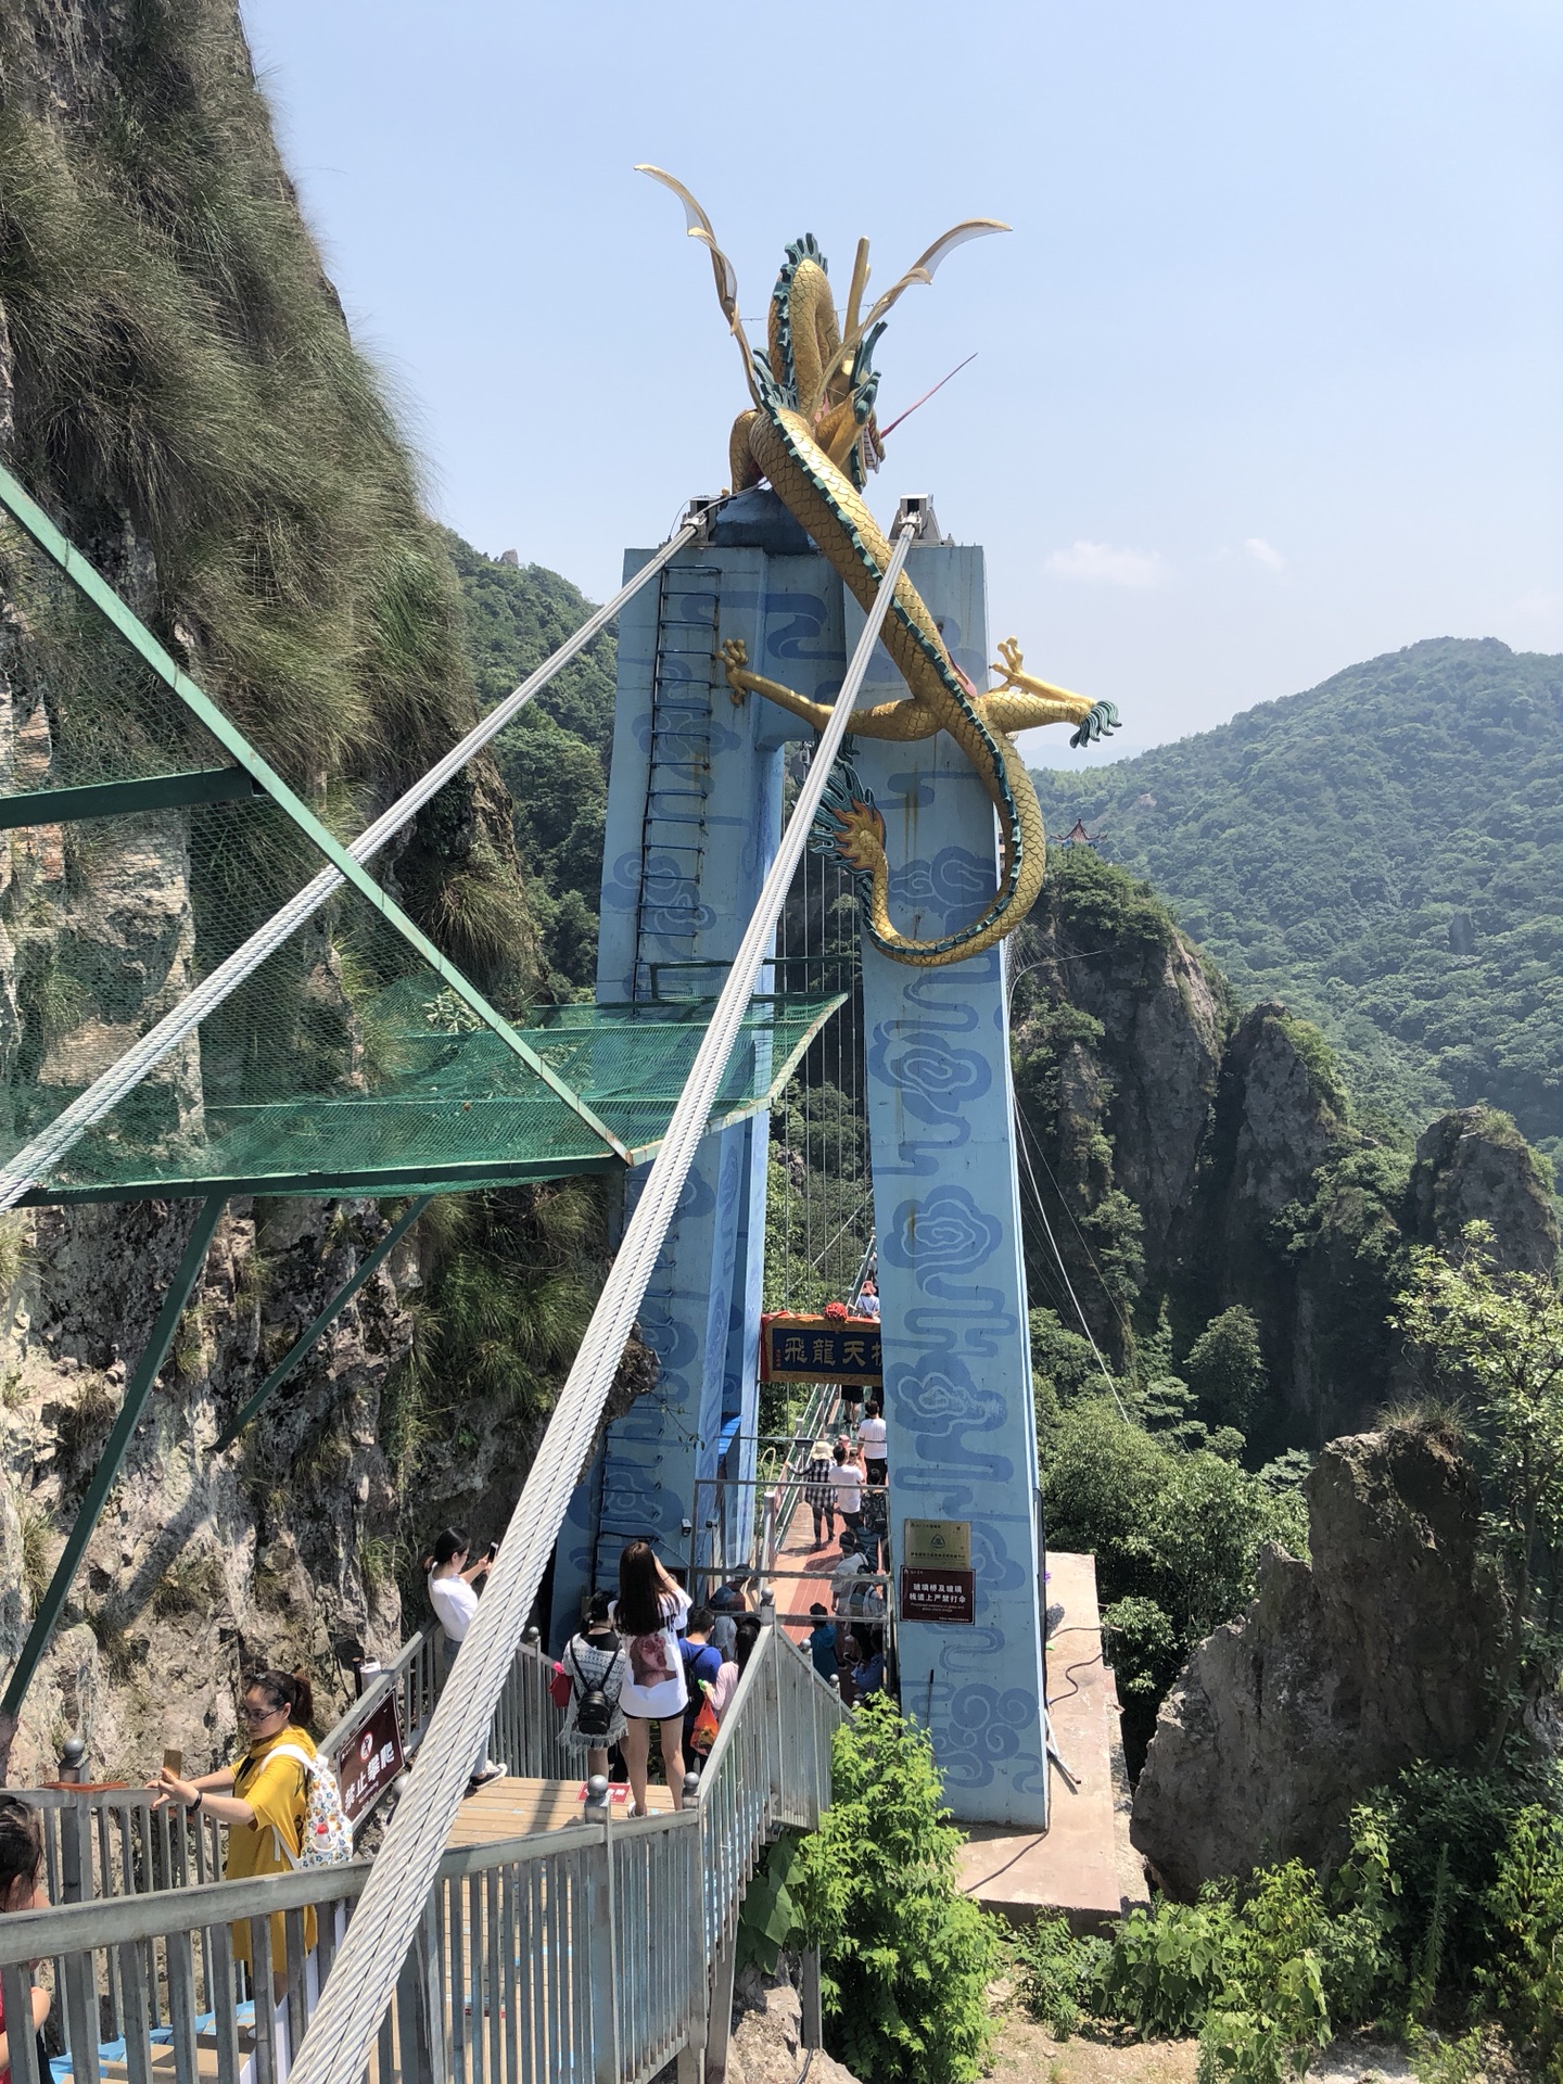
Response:
[[[536,1651],[517,1659],[519,1742],[536,1728],[534,1667]],[[646,2084],[675,2057],[698,2074],[729,2003],[744,1888],[769,1838],[817,1824],[840,1719],[832,1688],[767,1628],[692,1807],[446,1851],[381,2019],[375,2084]],[[73,2084],[286,2084],[369,1869],[0,1917],[6,2019],[27,2017],[42,1961]],[[15,2084],[48,2084],[29,2034],[10,2036],[10,2067]]]

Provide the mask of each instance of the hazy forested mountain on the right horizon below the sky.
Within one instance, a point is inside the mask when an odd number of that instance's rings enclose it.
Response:
[[[1117,767],[1036,775],[1248,1000],[1403,1119],[1563,1142],[1563,659],[1438,638]]]

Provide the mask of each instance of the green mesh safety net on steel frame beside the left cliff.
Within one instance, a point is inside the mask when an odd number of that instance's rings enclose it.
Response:
[[[0,698],[8,1159],[329,857],[8,521],[0,594],[23,638]],[[313,815],[342,838],[369,813],[317,798]],[[388,892],[394,854],[369,865]],[[377,894],[340,888],[27,1200],[458,1190],[654,1150],[711,1000],[506,1023],[438,965]],[[777,1096],[838,1004],[756,998],[713,1123]]]

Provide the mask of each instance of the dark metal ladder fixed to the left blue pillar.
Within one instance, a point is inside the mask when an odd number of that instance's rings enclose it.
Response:
[[[650,761],[636,902],[638,1000],[659,996],[656,967],[692,965],[698,952],[711,713],[721,684],[717,584],[713,565],[669,565],[656,592]],[[694,982],[692,971],[686,975]]]

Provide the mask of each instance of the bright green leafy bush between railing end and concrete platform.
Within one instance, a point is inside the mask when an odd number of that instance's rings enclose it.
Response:
[[[821,1951],[825,2040],[863,2084],[969,2084],[990,2044],[994,1921],[957,1886],[927,1734],[867,1701],[834,1738],[832,1807],[790,1888]]]

